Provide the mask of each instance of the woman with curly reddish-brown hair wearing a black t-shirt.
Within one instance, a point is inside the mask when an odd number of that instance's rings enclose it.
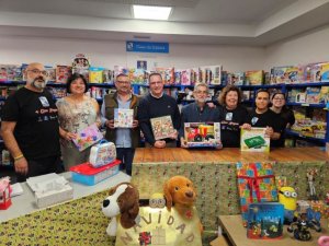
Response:
[[[240,127],[248,122],[248,110],[241,106],[241,92],[227,85],[219,94],[219,122],[223,147],[240,147]]]

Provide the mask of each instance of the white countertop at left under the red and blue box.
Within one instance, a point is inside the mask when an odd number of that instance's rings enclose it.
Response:
[[[72,186],[73,199],[87,197],[91,194],[110,189],[118,183],[131,181],[132,178],[131,176],[118,172],[118,174],[114,175],[113,177],[102,180],[94,186],[87,186],[79,183],[72,183],[70,172],[60,175],[68,179],[70,185]],[[18,197],[13,197],[11,199],[12,204],[7,210],[0,210],[0,223],[39,210],[36,207],[34,194],[32,192],[30,187],[26,185],[26,183],[21,183],[21,185],[24,194]]]

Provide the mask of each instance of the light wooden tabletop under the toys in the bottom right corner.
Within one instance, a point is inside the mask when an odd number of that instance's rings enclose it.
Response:
[[[321,221],[321,233],[309,230],[313,238],[308,242],[295,239],[293,234],[286,231],[286,226],[284,226],[282,239],[263,241],[247,238],[247,230],[242,226],[241,215],[219,215],[219,225],[234,246],[316,246],[319,236],[329,233],[327,223],[327,220]]]

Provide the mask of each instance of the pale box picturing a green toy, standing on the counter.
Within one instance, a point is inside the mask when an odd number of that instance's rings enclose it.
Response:
[[[265,137],[266,128],[252,127],[241,129],[240,149],[249,152],[270,152],[270,138]]]

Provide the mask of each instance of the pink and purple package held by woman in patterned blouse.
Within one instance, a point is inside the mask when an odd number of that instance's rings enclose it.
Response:
[[[82,131],[78,132],[77,138],[72,141],[79,151],[83,151],[88,147],[91,147],[98,141],[100,141],[101,139],[103,139],[103,134],[100,132],[97,124],[93,124],[84,128]]]

